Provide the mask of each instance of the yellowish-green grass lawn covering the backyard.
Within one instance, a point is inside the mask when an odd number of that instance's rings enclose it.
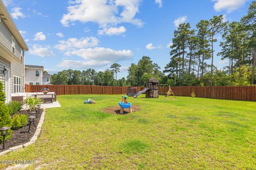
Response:
[[[31,169],[256,169],[255,103],[144,97],[128,98],[139,112],[116,115],[102,109],[121,95],[59,96],[36,143],[0,160],[36,160]]]

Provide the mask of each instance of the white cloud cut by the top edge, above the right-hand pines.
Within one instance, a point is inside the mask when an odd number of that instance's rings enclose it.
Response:
[[[215,2],[214,10],[219,11],[227,11],[228,13],[237,10],[245,4],[246,0],[212,0]]]

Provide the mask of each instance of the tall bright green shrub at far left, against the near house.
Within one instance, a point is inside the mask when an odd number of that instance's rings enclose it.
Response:
[[[12,120],[11,116],[9,114],[9,108],[4,104],[3,101],[0,101],[0,127],[12,127]],[[8,134],[6,135],[5,139],[9,139],[11,137],[11,130],[8,131]],[[3,142],[3,136],[0,135],[0,142]]]

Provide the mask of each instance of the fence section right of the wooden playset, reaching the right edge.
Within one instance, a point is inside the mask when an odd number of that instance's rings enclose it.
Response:
[[[171,87],[175,96],[256,101],[256,86],[213,86],[213,87]],[[159,88],[159,94],[166,94],[169,87]]]

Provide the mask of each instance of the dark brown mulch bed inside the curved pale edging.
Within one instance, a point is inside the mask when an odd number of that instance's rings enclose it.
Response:
[[[40,121],[42,113],[43,113],[43,109],[40,109],[40,114],[37,114],[38,118],[35,118],[35,125],[33,124],[33,122],[31,123],[29,133],[28,133],[29,122],[26,126],[23,126],[18,130],[12,130],[11,138],[5,141],[5,149],[3,149],[3,143],[0,144],[0,152],[6,149],[9,149],[11,147],[19,146],[29,142],[36,132],[36,126]],[[29,111],[20,111],[20,114],[26,114],[28,116],[31,116],[29,115]]]

